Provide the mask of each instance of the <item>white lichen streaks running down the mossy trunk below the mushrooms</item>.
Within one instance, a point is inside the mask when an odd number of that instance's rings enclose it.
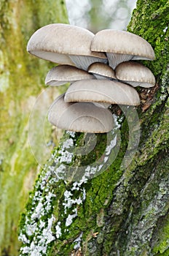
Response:
[[[20,232],[20,241],[23,242],[23,247],[20,249],[20,255],[45,255],[47,249],[52,241],[60,238],[64,232],[68,232],[65,227],[70,227],[74,218],[78,216],[77,208],[84,203],[86,199],[86,191],[84,184],[89,178],[98,175],[104,163],[108,161],[111,150],[116,146],[117,135],[114,131],[111,132],[113,139],[109,140],[106,146],[105,156],[103,162],[95,162],[94,165],[84,166],[82,170],[82,176],[79,176],[79,180],[72,182],[71,186],[69,182],[66,182],[66,170],[69,164],[73,162],[73,152],[75,136],[74,132],[67,132],[71,138],[65,140],[63,144],[60,144],[58,151],[52,154],[47,165],[44,166],[44,170],[36,182],[34,195],[31,195],[31,210],[28,211],[28,215],[25,217],[25,229]],[[111,136],[112,137],[112,136]],[[79,170],[76,167],[76,170]],[[80,171],[81,171],[80,170]],[[55,217],[52,215],[52,208],[55,207],[53,203],[57,200],[55,192],[51,189],[52,186],[56,186],[58,181],[65,181],[65,186],[68,184],[68,189],[64,192],[63,206],[64,211],[58,218],[58,222],[55,224]],[[74,193],[77,191],[76,193]],[[76,195],[76,196],[75,196]],[[45,221],[44,219],[48,220]],[[61,227],[61,219],[63,222],[64,229]],[[52,228],[52,226],[54,226]],[[53,232],[53,230],[55,230]],[[66,231],[67,230],[67,231]],[[33,241],[29,240],[29,237],[34,237]],[[74,240],[75,249],[80,246],[80,238],[82,234]]]

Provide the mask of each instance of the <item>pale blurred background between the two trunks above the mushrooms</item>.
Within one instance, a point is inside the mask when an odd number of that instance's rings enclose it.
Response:
[[[71,25],[96,33],[102,29],[126,30],[136,0],[66,0]]]

